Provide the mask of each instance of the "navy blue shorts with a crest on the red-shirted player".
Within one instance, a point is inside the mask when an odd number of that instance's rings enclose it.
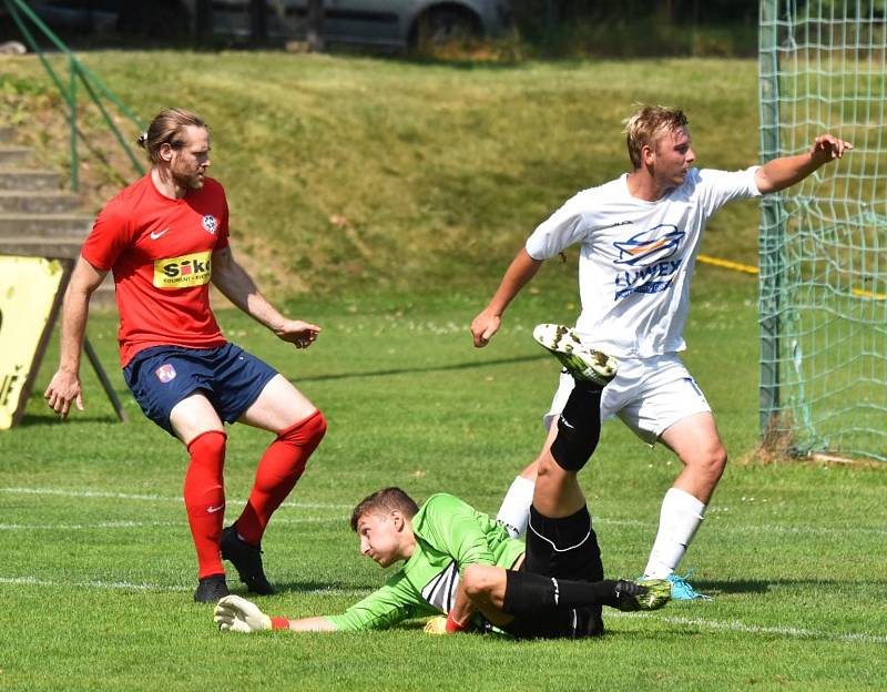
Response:
[[[200,391],[224,423],[234,423],[277,374],[239,346],[216,348],[153,346],[135,355],[123,378],[145,416],[170,435],[170,411]]]

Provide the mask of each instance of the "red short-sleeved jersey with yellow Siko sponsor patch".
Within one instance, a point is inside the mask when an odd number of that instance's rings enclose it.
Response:
[[[81,254],[114,272],[123,367],[151,346],[226,343],[210,309],[210,279],[213,251],[227,245],[225,190],[208,177],[201,190],[171,200],[149,173],[104,206]]]

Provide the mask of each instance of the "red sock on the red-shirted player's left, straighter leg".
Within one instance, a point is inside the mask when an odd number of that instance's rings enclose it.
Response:
[[[185,509],[194,548],[197,549],[198,577],[224,574],[218,541],[225,519],[225,465],[227,435],[221,430],[202,432],[187,446],[191,455],[185,474]]]

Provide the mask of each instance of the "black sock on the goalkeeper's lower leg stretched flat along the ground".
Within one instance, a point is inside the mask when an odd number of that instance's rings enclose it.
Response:
[[[508,570],[502,611],[510,615],[528,617],[555,609],[615,607],[615,586],[616,582],[609,579],[574,581]]]

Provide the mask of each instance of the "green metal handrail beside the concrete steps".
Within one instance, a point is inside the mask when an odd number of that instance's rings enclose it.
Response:
[[[30,48],[31,52],[35,53],[38,58],[40,58],[40,62],[43,63],[43,67],[52,78],[52,81],[55,83],[55,86],[59,89],[59,92],[61,93],[62,99],[64,99],[64,102],[68,106],[68,122],[71,128],[71,190],[77,192],[79,187],[78,172],[80,170],[80,157],[78,155],[77,143],[78,138],[83,138],[82,132],[78,128],[78,83],[82,84],[85,93],[101,112],[102,116],[108,123],[109,129],[129,156],[133,167],[139,172],[140,175],[143,175],[145,172],[144,165],[142,165],[142,162],[139,160],[132,147],[121,134],[120,129],[116,126],[111,118],[111,114],[108,112],[108,108],[105,108],[102,96],[115,105],[123,115],[132,121],[139,128],[140,132],[144,130],[142,121],[140,121],[139,118],[132,111],[130,111],[130,109],[128,109],[126,105],[116,95],[114,95],[98,77],[95,77],[82,62],[80,62],[80,60],[77,59],[70,49],[61,41],[61,39],[59,39],[59,37],[57,37],[45,23],[43,23],[43,21],[30,7],[28,7],[23,0],[2,0],[2,2],[9,11],[10,17],[18,26],[19,31],[21,31],[22,38],[28,44],[28,48]],[[34,32],[29,27],[29,22],[40,34],[43,35],[45,40],[48,40],[60,53],[67,58],[67,79],[63,79],[65,75],[59,75],[59,73],[52,68],[50,61],[47,60],[43,49],[34,38]]]

